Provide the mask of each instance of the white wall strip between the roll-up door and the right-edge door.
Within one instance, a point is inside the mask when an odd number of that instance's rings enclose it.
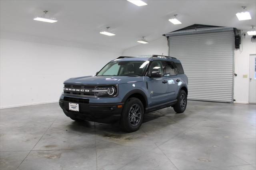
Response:
[[[234,103],[249,103],[249,56],[256,54],[256,43],[251,42],[251,36],[246,34],[242,39],[242,52],[235,50],[235,73],[234,77]],[[247,75],[247,78],[243,78]]]

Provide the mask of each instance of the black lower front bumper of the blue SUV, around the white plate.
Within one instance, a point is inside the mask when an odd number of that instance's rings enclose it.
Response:
[[[79,112],[69,110],[70,102],[79,104]],[[59,105],[68,117],[99,123],[113,123],[120,119],[124,103],[85,103],[84,101],[60,99]],[[118,105],[122,105],[122,107],[118,108]]]

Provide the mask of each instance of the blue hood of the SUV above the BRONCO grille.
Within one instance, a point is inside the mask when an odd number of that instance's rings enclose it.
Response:
[[[143,77],[131,76],[85,76],[70,78],[64,84],[115,85],[143,81]]]

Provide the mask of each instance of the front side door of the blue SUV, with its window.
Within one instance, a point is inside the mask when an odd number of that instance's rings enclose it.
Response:
[[[168,79],[164,76],[163,65],[161,61],[153,61],[150,64],[149,74],[152,71],[159,71],[162,77],[148,78],[148,93],[150,93],[150,106],[166,103],[168,95]],[[170,100],[169,100],[170,101]]]

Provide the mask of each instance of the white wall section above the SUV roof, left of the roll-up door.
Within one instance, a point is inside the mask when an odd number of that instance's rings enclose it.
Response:
[[[158,40],[154,40],[147,44],[140,44],[135,47],[131,47],[129,49],[124,50],[124,56],[138,56],[138,55],[168,55],[168,45],[167,45],[167,38],[162,37]]]

